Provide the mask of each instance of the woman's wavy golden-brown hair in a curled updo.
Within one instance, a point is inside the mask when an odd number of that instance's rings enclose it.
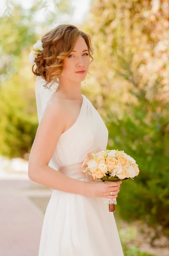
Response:
[[[45,79],[45,87],[49,88],[54,84],[63,70],[64,59],[73,51],[77,38],[84,38],[89,57],[93,61],[93,47],[88,34],[80,31],[74,25],[62,24],[47,32],[41,39],[43,50],[37,55],[32,66],[32,72],[36,76],[42,76]],[[34,69],[35,67],[35,69]],[[88,72],[89,73],[89,72]],[[89,73],[90,74],[90,73]],[[48,87],[48,84],[50,86]]]

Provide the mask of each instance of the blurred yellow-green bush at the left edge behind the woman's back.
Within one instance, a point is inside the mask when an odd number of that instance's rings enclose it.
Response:
[[[34,89],[29,80],[14,75],[6,87],[0,89],[0,154],[23,157],[31,150],[38,120]]]

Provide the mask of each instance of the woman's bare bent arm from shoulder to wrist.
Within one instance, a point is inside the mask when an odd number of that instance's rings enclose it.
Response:
[[[48,166],[64,131],[67,115],[68,111],[62,102],[54,99],[48,102],[31,148],[28,177],[51,189],[87,196],[90,195],[90,183],[63,175]]]

